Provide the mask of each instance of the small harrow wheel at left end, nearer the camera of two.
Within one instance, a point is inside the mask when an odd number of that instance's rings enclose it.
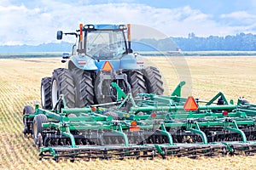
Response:
[[[32,134],[33,134],[35,144],[38,145],[39,147],[43,145],[43,141],[44,141],[43,131],[45,130],[45,127],[42,127],[42,123],[47,123],[47,122],[48,122],[47,116],[43,114],[39,114],[35,116],[33,120]],[[42,139],[38,139],[39,137]]]

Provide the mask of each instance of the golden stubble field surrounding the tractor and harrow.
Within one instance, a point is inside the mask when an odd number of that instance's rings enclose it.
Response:
[[[244,96],[256,103],[256,57],[147,58],[160,68],[166,94],[188,80],[184,94],[211,99],[219,91],[228,99]],[[0,169],[255,169],[256,156],[169,158],[125,161],[38,161],[32,139],[23,137],[24,105],[40,101],[40,81],[61,59],[0,59]],[[190,82],[189,82],[190,81]]]

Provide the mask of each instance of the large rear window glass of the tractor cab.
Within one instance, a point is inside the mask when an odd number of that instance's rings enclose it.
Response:
[[[123,31],[88,31],[86,54],[96,59],[119,59],[125,54]]]

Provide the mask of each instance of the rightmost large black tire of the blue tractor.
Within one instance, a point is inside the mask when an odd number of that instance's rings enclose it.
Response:
[[[160,71],[153,66],[148,66],[143,71],[144,79],[148,89],[148,94],[162,95],[164,93],[163,81],[161,80]]]

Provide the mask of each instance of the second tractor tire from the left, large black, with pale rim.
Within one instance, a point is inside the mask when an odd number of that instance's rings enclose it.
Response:
[[[67,107],[75,107],[75,86],[72,74],[69,70],[64,68],[58,68],[53,71],[53,77],[51,82],[51,103],[54,108],[61,94],[64,95],[64,99]]]

